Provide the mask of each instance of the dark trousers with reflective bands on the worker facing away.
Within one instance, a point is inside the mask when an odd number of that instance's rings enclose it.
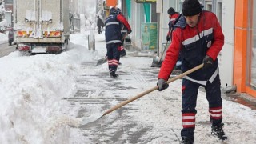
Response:
[[[106,45],[106,55],[110,73],[116,72],[118,69],[118,62],[120,59],[120,52],[118,50],[118,46],[121,46],[121,43],[110,43]]]

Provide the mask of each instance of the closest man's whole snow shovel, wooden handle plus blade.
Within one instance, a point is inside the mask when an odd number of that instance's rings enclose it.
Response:
[[[183,77],[186,76],[187,74],[193,73],[195,70],[201,69],[202,66],[203,66],[203,63],[202,63],[201,65],[195,66],[193,69],[187,70],[186,72],[177,75],[177,76],[174,77],[174,78],[169,79],[169,80],[167,81],[167,83],[169,84],[170,82],[174,82],[174,81],[176,81],[176,80],[179,79],[179,78],[183,78]],[[146,90],[146,91],[143,91],[141,94],[136,95],[135,97],[129,98],[128,100],[119,103],[118,105],[116,105],[116,106],[110,108],[109,110],[106,110],[106,112],[105,112],[104,114],[96,114],[96,115],[94,115],[93,117],[82,119],[82,122],[81,122],[80,126],[85,126],[85,125],[87,125],[87,124],[90,123],[90,122],[94,122],[94,121],[96,121],[96,120],[102,118],[104,115],[110,114],[112,111],[117,110],[118,108],[120,108],[120,107],[122,107],[122,106],[125,106],[126,104],[128,104],[128,103],[130,103],[130,102],[133,102],[134,100],[136,100],[136,99],[138,99],[138,98],[141,98],[142,96],[144,96],[144,95],[146,95],[146,94],[149,94],[149,93],[151,93],[151,92],[154,91],[154,90],[158,90],[158,86],[154,86],[154,87],[152,87],[151,89]]]

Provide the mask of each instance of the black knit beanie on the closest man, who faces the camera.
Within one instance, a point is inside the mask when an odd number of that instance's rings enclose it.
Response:
[[[202,6],[198,0],[185,0],[182,5],[184,16],[193,16],[202,12]]]

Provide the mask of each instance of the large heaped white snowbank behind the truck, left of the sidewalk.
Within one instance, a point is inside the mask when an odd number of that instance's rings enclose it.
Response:
[[[72,43],[69,49],[0,58],[0,143],[69,143],[69,125],[79,120],[65,114],[70,103],[62,98],[74,95],[80,63],[94,55]]]

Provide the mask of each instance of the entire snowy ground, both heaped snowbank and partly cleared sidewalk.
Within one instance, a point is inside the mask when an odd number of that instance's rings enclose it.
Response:
[[[96,51],[86,34],[73,34],[62,54],[0,58],[0,143],[178,143],[182,129],[181,80],[130,102],[86,126],[83,118],[102,114],[118,103],[156,86],[152,58],[121,58],[118,78],[107,64],[104,34],[96,34]],[[225,95],[223,95],[225,97]],[[194,143],[222,143],[210,135],[205,93],[198,93]],[[256,110],[223,98],[228,143],[256,142]]]

